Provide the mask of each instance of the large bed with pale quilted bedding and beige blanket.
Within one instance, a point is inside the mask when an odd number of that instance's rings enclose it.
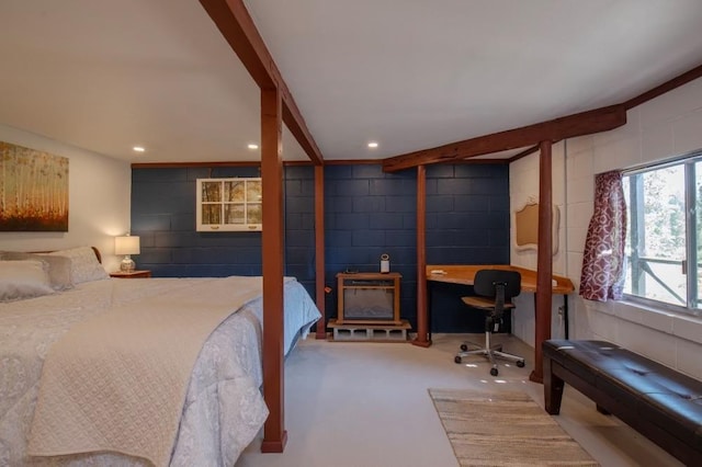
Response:
[[[110,278],[93,250],[87,247],[57,251],[41,258],[2,253],[0,260],[0,298],[3,300],[0,304],[0,465],[230,466],[261,430],[268,417],[260,390],[261,277]],[[66,273],[67,269],[69,273]],[[19,284],[12,284],[13,288],[7,286],[8,282]],[[284,353],[287,354],[296,340],[306,337],[312,324],[320,317],[305,288],[292,277],[286,277],[284,282],[284,314],[283,341]],[[205,318],[211,315],[214,318]],[[181,316],[185,328],[200,326],[201,321],[207,319],[212,327],[210,329],[203,324],[200,332],[204,340],[201,344],[193,344],[196,351],[192,365],[184,373],[186,378],[182,391],[178,389],[178,384],[171,385],[168,379],[170,366],[160,362],[150,362],[155,366],[146,366],[158,369],[152,373],[160,379],[149,381],[147,379],[150,377],[139,376],[138,380],[131,381],[129,377],[137,374],[132,360],[151,361],[156,360],[155,355],[159,352],[171,354],[180,351],[180,348],[188,348],[183,344],[185,341],[179,341],[178,330],[173,331],[176,337],[168,338],[161,332],[161,329],[171,328],[171,321],[181,320]],[[116,331],[125,324],[122,321],[126,322],[126,332]],[[121,324],[116,326],[115,322]],[[106,330],[100,328],[104,328],[105,323]],[[139,334],[146,337],[139,344],[144,349],[133,345]],[[94,350],[87,352],[87,349],[91,349],[91,339],[98,343],[93,342]],[[163,341],[165,345],[171,345],[163,348],[171,349],[168,351],[162,350],[160,343],[154,346],[155,342],[161,342],[162,339],[176,339],[177,342],[169,344]],[[97,360],[103,348],[110,349],[110,352],[104,352],[107,356],[114,353],[111,344],[107,344],[110,340],[118,344],[128,342],[124,346],[129,353],[128,358],[132,358],[127,361],[129,363],[124,363],[124,356],[117,356],[116,364]],[[58,352],[61,348],[72,352],[78,349],[79,353],[61,354]],[[91,396],[93,400],[87,399],[84,407],[89,407],[89,410],[71,406],[77,403],[75,400],[82,399],[65,397],[60,390],[66,391],[66,388],[55,388],[56,380],[73,379],[66,377],[69,373],[65,373],[63,367],[60,371],[52,369],[58,367],[57,362],[61,362],[59,355],[64,355],[63,358],[69,364],[75,361],[75,367],[70,371],[82,368],[77,379],[84,374],[99,374],[103,368],[110,368],[110,375],[100,375],[97,383],[95,378],[88,376],[86,379],[91,383],[81,383],[98,395]],[[76,363],[78,360],[80,364]],[[162,373],[160,376],[159,372]],[[52,380],[53,374],[60,376]],[[162,414],[170,412],[157,411],[154,412],[156,415],[146,419],[147,422],[151,421],[150,424],[138,420],[138,417],[134,422],[129,417],[124,417],[125,413],[132,413],[124,408],[128,403],[121,406],[124,401],[111,399],[107,399],[110,403],[104,403],[104,397],[114,397],[114,388],[105,383],[110,377],[116,384],[128,386],[129,391],[139,388],[136,394],[146,394],[146,401],[151,400],[148,397],[152,398],[154,394],[160,397],[171,386],[176,387],[171,396],[180,399],[180,405],[176,406],[179,411],[174,421],[167,423],[168,418]],[[163,384],[163,380],[169,383]],[[94,389],[93,386],[100,386],[98,383],[106,385],[106,395],[100,392],[104,388]],[[157,389],[141,392],[141,384]],[[67,394],[72,396],[73,391],[69,387]],[[72,402],[66,402],[68,399]],[[155,400],[160,402],[160,399]],[[52,403],[60,406],[58,411],[65,413],[52,419],[53,410],[46,409]],[[160,406],[149,402],[146,409],[156,407],[161,410]],[[100,426],[90,424],[100,421],[100,415],[90,418],[105,407],[118,407],[120,410],[118,413],[106,411],[103,418],[112,421],[122,417],[126,420],[118,421],[116,428],[105,429],[107,434],[103,436]],[[141,409],[137,406],[136,410]],[[140,415],[147,417],[146,413]],[[84,422],[87,425],[82,426]],[[138,448],[129,445],[129,441],[125,445],[118,444],[122,440],[117,440],[116,445],[110,444],[115,442],[112,438],[100,444],[103,437],[109,437],[110,430],[116,431],[117,435],[129,434],[123,437],[132,442],[136,438],[139,444],[141,437],[148,438],[151,432],[160,430],[160,424],[174,425],[172,433],[165,430],[165,435],[151,436],[161,443],[158,445],[160,451],[149,451],[151,445],[148,443]],[[65,438],[71,438],[76,429],[87,432],[82,436],[100,432],[100,436],[95,436],[100,437],[98,444],[88,442],[84,445],[71,445],[71,441]]]

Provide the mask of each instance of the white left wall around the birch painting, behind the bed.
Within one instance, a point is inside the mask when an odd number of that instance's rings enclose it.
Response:
[[[93,246],[100,249],[107,271],[118,269],[113,237],[129,228],[129,163],[4,125],[0,125],[0,140],[69,159],[68,232],[0,232],[0,250]]]

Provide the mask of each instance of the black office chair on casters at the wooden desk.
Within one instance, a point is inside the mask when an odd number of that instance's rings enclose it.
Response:
[[[475,274],[473,289],[476,296],[461,297],[461,299],[473,308],[486,311],[485,346],[464,342],[461,344],[461,352],[454,358],[455,363],[462,363],[463,357],[467,355],[484,355],[492,364],[490,368],[490,375],[492,376],[498,375],[496,357],[514,362],[519,367],[524,366],[524,358],[521,356],[502,352],[500,344],[490,345],[490,334],[494,330],[497,331],[497,328],[502,322],[502,312],[506,309],[514,308],[512,297],[518,296],[521,292],[521,282],[522,276],[517,271],[479,270]],[[469,350],[468,345],[477,349]]]

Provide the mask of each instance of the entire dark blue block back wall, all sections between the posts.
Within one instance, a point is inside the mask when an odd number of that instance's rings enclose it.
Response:
[[[260,232],[195,231],[195,180],[260,176],[258,167],[136,168],[132,171],[132,234],[141,237],[139,267],[154,276],[261,274]],[[315,294],[314,168],[286,166],[285,273]],[[507,166],[427,168],[427,263],[509,263]],[[336,317],[336,274],[375,272],[380,257],[403,274],[401,310],[417,321],[417,172],[384,173],[381,164],[325,167],[327,318]],[[455,287],[430,291],[434,332],[483,330]],[[469,292],[469,291],[465,291]],[[479,317],[478,317],[479,318]]]

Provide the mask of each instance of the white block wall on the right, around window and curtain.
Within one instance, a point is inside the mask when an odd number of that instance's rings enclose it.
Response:
[[[565,255],[558,253],[554,258],[554,273],[565,272],[578,289],[585,237],[592,215],[595,174],[638,167],[700,148],[702,79],[632,109],[627,124],[621,128],[565,141],[561,162],[556,160],[554,147],[554,203],[563,203],[565,210],[559,231],[565,239]],[[563,160],[565,172],[559,171]],[[537,164],[539,155],[532,155],[510,167],[512,210],[523,197],[537,197]],[[565,186],[565,191],[559,186]],[[531,190],[533,192],[528,193]],[[511,261],[535,269],[535,253],[532,259],[512,248]],[[698,357],[702,352],[702,319],[646,309],[626,300],[584,300],[577,293],[569,296],[569,304],[570,339],[608,340],[702,379],[702,360]],[[554,308],[557,305],[554,297]],[[521,297],[514,333],[532,345],[533,316],[533,298]],[[557,322],[554,310],[554,323]],[[559,332],[556,326],[552,334],[562,337]]]

